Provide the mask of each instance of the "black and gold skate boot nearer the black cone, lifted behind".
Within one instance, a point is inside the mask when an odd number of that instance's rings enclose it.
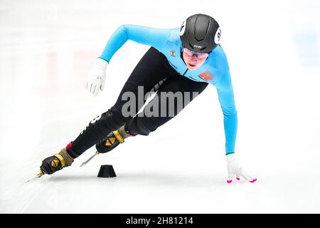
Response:
[[[130,134],[127,130],[125,130],[124,126],[119,128],[118,130],[113,131],[106,138],[97,142],[95,147],[97,151],[100,153],[109,152],[117,147],[120,143],[124,142],[125,138],[129,136],[135,136],[134,134]]]

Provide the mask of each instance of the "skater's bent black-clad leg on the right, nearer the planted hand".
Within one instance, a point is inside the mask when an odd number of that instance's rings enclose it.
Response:
[[[191,81],[182,76],[169,78],[159,88],[156,97],[144,108],[144,110],[153,110],[152,115],[148,116],[146,112],[143,113],[143,116],[136,115],[129,120],[125,128],[135,135],[149,135],[178,115],[207,86],[208,83]]]

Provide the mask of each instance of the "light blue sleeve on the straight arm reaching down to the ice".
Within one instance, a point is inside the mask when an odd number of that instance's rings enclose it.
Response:
[[[231,83],[230,71],[227,71],[215,84],[218,99],[223,110],[223,124],[225,128],[225,153],[235,152],[235,139],[237,137],[238,115],[235,108],[233,85]]]

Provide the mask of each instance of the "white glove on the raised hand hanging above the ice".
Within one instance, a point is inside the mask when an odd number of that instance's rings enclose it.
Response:
[[[97,58],[95,65],[92,67],[89,76],[87,77],[85,88],[93,95],[97,95],[99,90],[102,91],[105,87],[105,69],[108,64],[109,63],[102,58]]]

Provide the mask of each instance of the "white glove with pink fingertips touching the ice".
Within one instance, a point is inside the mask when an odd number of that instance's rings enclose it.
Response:
[[[227,163],[228,163],[228,183],[233,181],[233,177],[236,176],[237,180],[240,180],[240,176],[245,178],[245,180],[249,182],[255,182],[257,178],[250,177],[242,170],[241,165],[239,165],[238,161],[235,159],[235,154],[232,153],[227,155]]]

